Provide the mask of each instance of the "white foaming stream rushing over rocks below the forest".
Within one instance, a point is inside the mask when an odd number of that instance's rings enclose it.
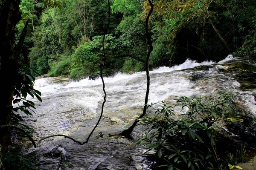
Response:
[[[255,118],[255,61],[255,58],[233,58],[229,55],[218,63],[186,60],[171,68],[154,69],[150,72],[148,104],[172,101],[177,96],[216,95],[220,91],[232,91],[235,101]],[[241,63],[246,69],[237,74],[241,71]],[[33,148],[30,141],[23,141],[23,154],[37,153],[38,163],[35,166],[41,170],[56,170],[60,161],[59,153],[62,152],[61,170],[152,169],[154,162],[147,158],[151,153],[144,154],[146,150],[134,146],[134,141],[118,136],[105,137],[120,133],[142,113],[146,91],[145,72],[131,75],[117,73],[104,78],[104,81],[107,101],[102,120],[89,142],[79,145],[64,137],[53,137]],[[68,78],[38,78],[35,89],[41,91],[43,102],[27,98],[35,102],[35,114],[23,114],[26,124],[35,129],[33,138],[38,141],[47,135],[64,134],[78,141],[86,141],[101,112],[104,95],[101,79],[86,78],[75,82]],[[134,138],[142,134],[141,127],[135,128]],[[96,138],[97,135],[103,135],[103,138]]]

